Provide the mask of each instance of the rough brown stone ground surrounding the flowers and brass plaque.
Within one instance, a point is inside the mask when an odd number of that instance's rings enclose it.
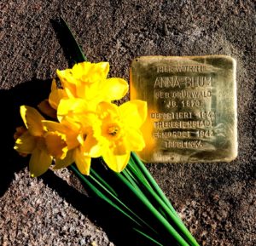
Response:
[[[140,55],[228,54],[237,60],[236,160],[147,166],[201,245],[256,245],[253,0],[2,0],[0,9],[1,245],[127,244],[120,228],[109,231],[111,218],[101,220],[78,192],[73,174],[32,179],[27,159],[12,150],[18,106],[43,99],[56,68],[68,66],[54,28],[60,14],[90,61],[110,62],[111,76],[128,79],[131,60]]]

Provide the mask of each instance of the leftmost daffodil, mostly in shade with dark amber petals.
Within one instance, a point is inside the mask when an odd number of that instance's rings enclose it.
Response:
[[[15,141],[15,150],[21,154],[32,154],[29,162],[32,176],[44,174],[52,163],[53,157],[66,156],[65,136],[46,133],[42,123],[44,117],[30,106],[20,106],[20,115],[26,130],[20,132]]]

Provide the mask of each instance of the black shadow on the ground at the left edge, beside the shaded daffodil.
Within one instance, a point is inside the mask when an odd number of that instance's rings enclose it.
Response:
[[[17,85],[13,89],[0,90],[0,104],[2,106],[2,129],[1,144],[1,173],[0,173],[0,197],[9,187],[14,178],[14,173],[23,169],[27,158],[20,158],[14,151],[15,128],[23,125],[20,117],[20,106],[37,106],[38,102],[48,97],[50,80],[32,79],[27,83]]]

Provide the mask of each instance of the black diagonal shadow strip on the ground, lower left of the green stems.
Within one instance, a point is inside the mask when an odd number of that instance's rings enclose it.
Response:
[[[69,186],[65,180],[61,180],[54,172],[47,171],[41,176],[44,184],[64,198],[73,208],[78,209],[84,216],[101,226],[107,233],[108,239],[114,245],[122,246],[150,246],[148,240],[138,237],[136,232],[131,230],[130,221],[120,215],[108,203],[97,197],[87,197],[73,186]],[[135,243],[136,242],[136,243]]]

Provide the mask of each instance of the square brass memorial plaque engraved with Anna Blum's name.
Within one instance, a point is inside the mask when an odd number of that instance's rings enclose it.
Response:
[[[230,162],[237,155],[236,60],[224,55],[133,60],[131,100],[148,102],[146,162]]]

